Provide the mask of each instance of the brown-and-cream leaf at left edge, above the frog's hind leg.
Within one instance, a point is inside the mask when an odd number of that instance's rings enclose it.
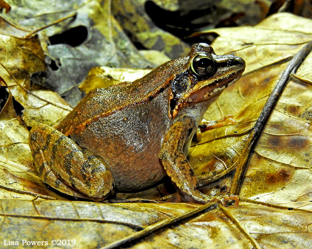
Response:
[[[0,34],[0,75],[23,107],[27,126],[38,122],[52,124],[71,111],[71,106],[50,90],[31,87],[30,75],[45,69],[44,54],[37,36],[16,38]]]

